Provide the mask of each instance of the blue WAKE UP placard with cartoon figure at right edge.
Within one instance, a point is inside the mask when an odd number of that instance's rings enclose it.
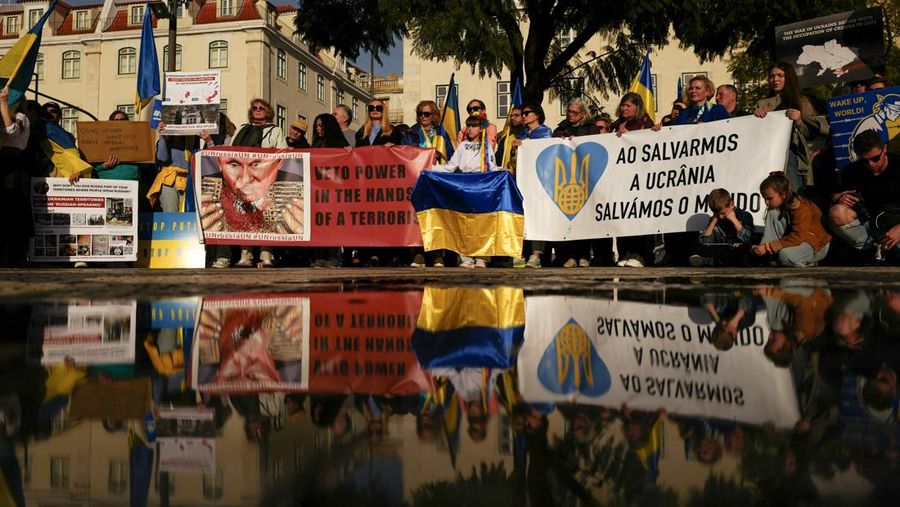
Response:
[[[831,145],[838,169],[856,161],[853,139],[874,130],[891,153],[900,153],[900,86],[828,99]]]

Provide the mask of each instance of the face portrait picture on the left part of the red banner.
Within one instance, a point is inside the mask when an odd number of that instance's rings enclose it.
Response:
[[[195,157],[197,206],[209,243],[281,245],[309,239],[309,153],[258,148]]]

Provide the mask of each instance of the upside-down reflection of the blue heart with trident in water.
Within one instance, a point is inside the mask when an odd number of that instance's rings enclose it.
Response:
[[[612,385],[609,368],[575,319],[569,319],[547,346],[538,363],[538,380],[552,393],[591,397],[606,394]]]

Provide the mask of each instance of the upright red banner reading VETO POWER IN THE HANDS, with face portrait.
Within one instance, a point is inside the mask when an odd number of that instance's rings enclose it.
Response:
[[[210,244],[419,246],[409,194],[434,150],[213,148],[195,157]]]

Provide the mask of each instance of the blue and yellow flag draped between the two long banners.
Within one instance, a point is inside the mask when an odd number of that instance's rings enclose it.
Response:
[[[521,257],[522,194],[507,171],[419,175],[410,196],[425,250]]]

